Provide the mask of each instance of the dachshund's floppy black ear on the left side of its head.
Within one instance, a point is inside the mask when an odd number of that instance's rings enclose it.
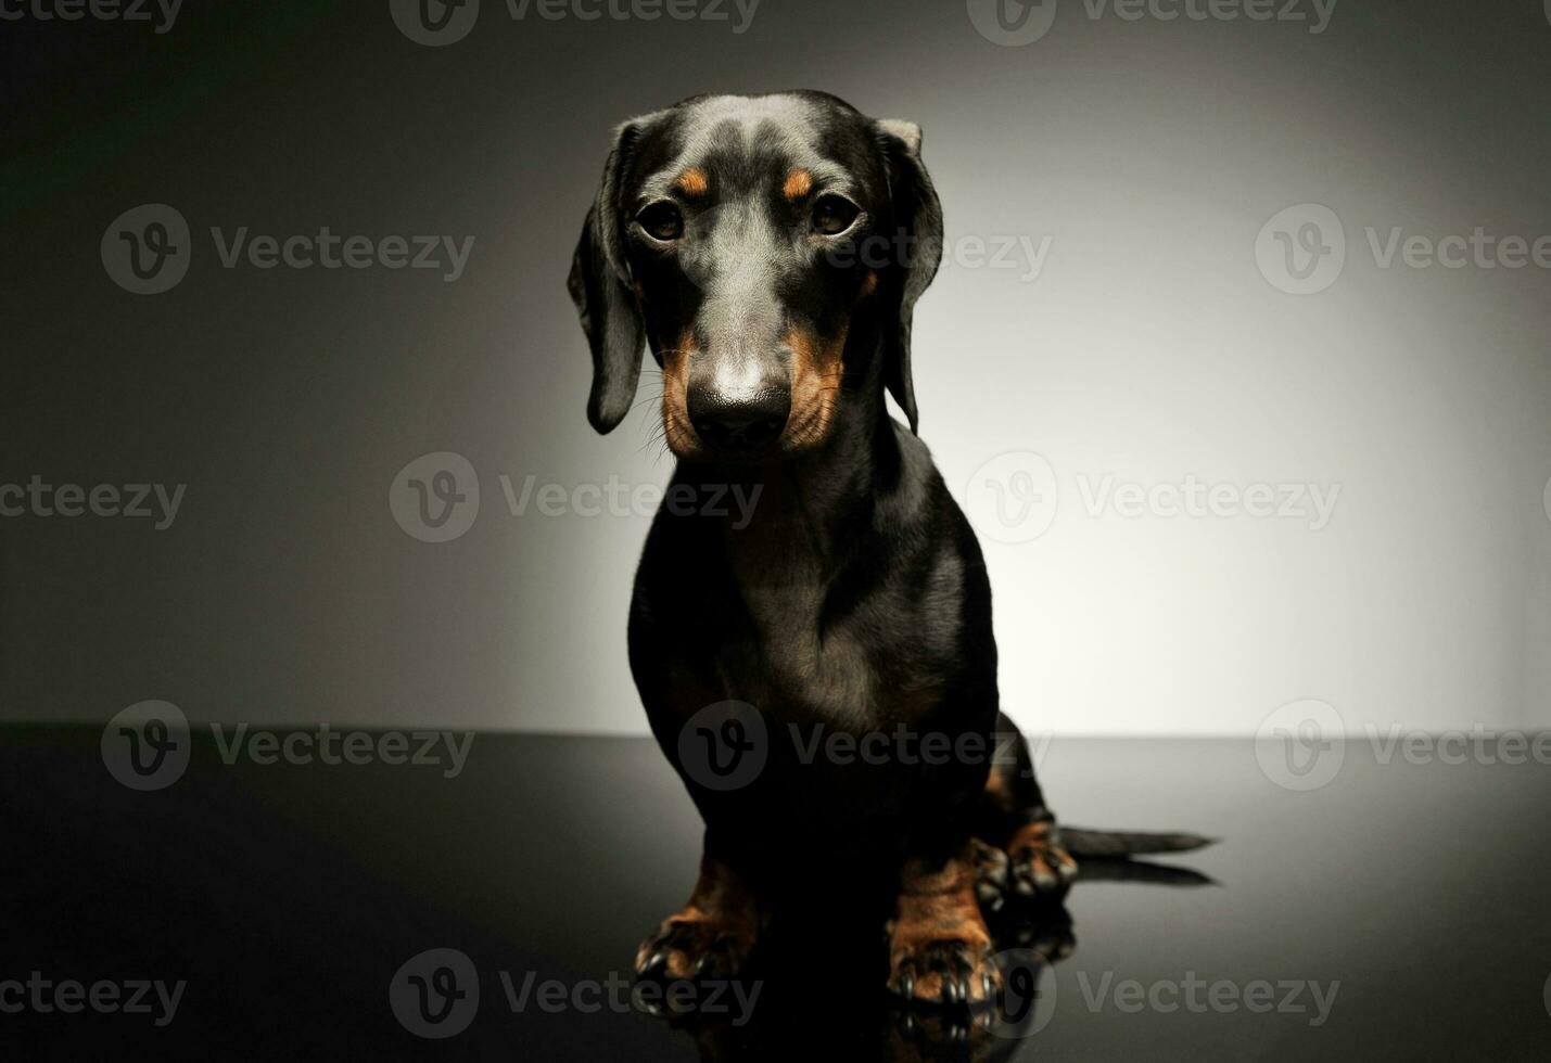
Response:
[[[586,417],[599,432],[614,431],[630,412],[647,339],[619,231],[620,181],[642,129],[644,122],[636,119],[614,130],[614,147],[603,167],[603,183],[582,226],[582,239],[566,280],[582,318],[582,332],[592,347],[592,394],[588,397]]]

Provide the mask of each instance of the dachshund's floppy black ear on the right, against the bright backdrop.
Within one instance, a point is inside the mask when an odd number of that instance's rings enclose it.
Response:
[[[915,409],[915,387],[910,383],[910,315],[915,301],[937,276],[943,257],[943,206],[937,189],[921,163],[921,127],[915,122],[883,119],[876,124],[878,143],[883,147],[889,170],[889,198],[893,206],[895,225],[906,237],[900,242],[900,268],[903,276],[890,290],[898,298],[898,329],[884,333],[883,380],[910,418],[910,431],[917,431],[920,415]]]

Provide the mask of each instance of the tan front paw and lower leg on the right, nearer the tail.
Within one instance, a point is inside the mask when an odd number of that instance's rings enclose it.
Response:
[[[931,1004],[977,1004],[1000,984],[976,902],[972,845],[946,860],[910,858],[889,927],[889,989]]]

